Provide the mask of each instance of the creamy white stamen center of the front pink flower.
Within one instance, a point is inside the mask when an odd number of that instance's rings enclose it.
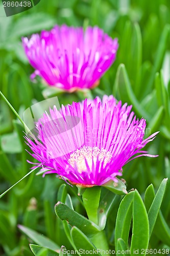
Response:
[[[92,163],[94,163],[94,167],[96,167],[97,160],[100,161],[101,168],[102,162],[104,161],[103,166],[105,167],[111,158],[112,154],[103,147],[100,150],[97,146],[83,146],[80,150],[76,150],[74,153],[70,154],[68,162],[72,167],[75,167],[76,164],[78,172],[81,174],[87,169],[86,161],[92,172]]]

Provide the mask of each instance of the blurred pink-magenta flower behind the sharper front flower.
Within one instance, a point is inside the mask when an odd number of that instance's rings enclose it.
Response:
[[[36,75],[49,86],[72,92],[92,88],[112,65],[118,48],[98,27],[55,26],[51,31],[22,38],[23,47]]]

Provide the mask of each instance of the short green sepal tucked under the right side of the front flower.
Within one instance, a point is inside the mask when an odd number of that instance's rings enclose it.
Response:
[[[116,178],[117,179],[117,178]],[[117,195],[125,195],[128,194],[127,190],[126,190],[126,185],[124,182],[122,182],[121,180],[117,179],[118,182],[115,181],[108,181],[107,183],[103,184],[103,187],[106,187],[107,189],[109,189],[110,191],[114,192]]]

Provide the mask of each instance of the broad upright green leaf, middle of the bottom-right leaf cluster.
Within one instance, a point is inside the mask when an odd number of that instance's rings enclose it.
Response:
[[[137,190],[134,191],[133,200],[133,228],[131,240],[131,255],[135,250],[147,249],[149,244],[149,220],[147,210]],[[145,255],[145,253],[143,254]]]

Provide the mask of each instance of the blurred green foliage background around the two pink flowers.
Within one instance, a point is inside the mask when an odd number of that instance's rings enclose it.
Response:
[[[92,90],[92,95],[113,94],[123,103],[133,104],[137,117],[147,120],[147,137],[160,131],[146,147],[159,157],[138,158],[123,168],[128,190],[137,188],[142,194],[151,183],[157,188],[164,177],[170,178],[169,0],[41,0],[36,7],[10,17],[5,16],[0,5],[0,90],[21,117],[31,104],[57,96],[54,90],[44,88],[40,80],[30,81],[33,68],[23,52],[21,37],[49,30],[55,24],[84,28],[97,25],[118,38],[116,61],[102,77],[99,87]],[[86,94],[58,96],[60,104],[66,104],[82,100]],[[29,172],[31,164],[26,160],[33,159],[25,151],[29,148],[23,139],[22,125],[1,97],[0,124],[1,194]],[[58,245],[64,241],[69,247],[54,212],[62,183],[53,175],[42,178],[33,173],[0,199],[0,255],[32,255],[29,241],[17,224],[43,233]],[[76,210],[83,212],[81,202],[74,197],[76,188],[66,186]],[[168,183],[162,204],[166,220],[170,217],[169,210]]]

